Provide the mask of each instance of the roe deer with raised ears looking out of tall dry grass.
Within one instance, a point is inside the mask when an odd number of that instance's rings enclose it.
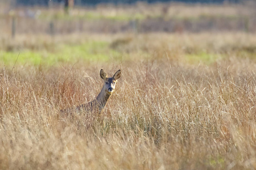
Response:
[[[101,69],[100,76],[104,80],[104,85],[101,89],[100,94],[96,97],[96,99],[90,101],[86,104],[81,104],[76,107],[76,111],[89,111],[101,113],[107,104],[109,97],[113,94],[115,90],[115,83],[121,76],[121,70],[118,70],[113,77],[109,78],[108,75]],[[70,112],[70,111],[69,111]]]

